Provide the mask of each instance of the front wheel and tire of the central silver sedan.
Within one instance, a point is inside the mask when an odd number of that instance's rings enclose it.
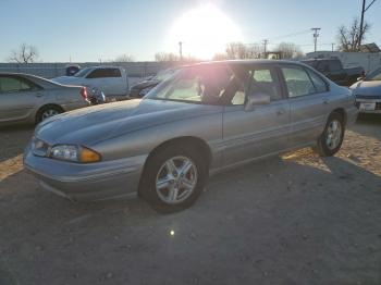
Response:
[[[208,165],[195,149],[170,144],[148,159],[139,195],[160,213],[177,212],[196,202],[207,178]]]

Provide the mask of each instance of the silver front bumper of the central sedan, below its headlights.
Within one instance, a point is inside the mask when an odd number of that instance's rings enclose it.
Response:
[[[27,148],[25,168],[49,191],[75,201],[136,196],[147,156],[79,164],[36,157]]]

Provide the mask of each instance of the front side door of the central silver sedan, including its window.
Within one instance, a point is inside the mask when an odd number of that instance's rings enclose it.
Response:
[[[225,166],[281,151],[287,147],[290,107],[283,97],[276,69],[253,66],[223,114]],[[269,104],[245,111],[246,94],[266,94]]]

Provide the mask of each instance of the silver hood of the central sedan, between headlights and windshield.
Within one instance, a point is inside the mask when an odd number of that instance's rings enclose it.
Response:
[[[221,112],[220,106],[135,99],[63,113],[41,122],[35,136],[50,145],[94,146],[110,137],[193,116]]]

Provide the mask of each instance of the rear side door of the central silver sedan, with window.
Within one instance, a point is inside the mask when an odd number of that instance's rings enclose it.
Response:
[[[316,72],[300,65],[282,65],[281,71],[291,112],[290,147],[316,141],[327,121],[328,84]]]

